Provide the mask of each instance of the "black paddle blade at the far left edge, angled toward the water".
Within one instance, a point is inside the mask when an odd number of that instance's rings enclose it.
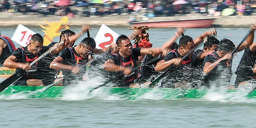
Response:
[[[15,82],[16,80],[18,80],[19,78],[21,78],[21,76],[23,76],[25,73],[25,71],[19,71],[16,72],[14,75],[12,75],[10,78],[7,78],[6,80],[4,80],[2,83],[0,83],[0,92],[3,91],[5,88],[7,88],[8,86],[10,86],[13,82]]]

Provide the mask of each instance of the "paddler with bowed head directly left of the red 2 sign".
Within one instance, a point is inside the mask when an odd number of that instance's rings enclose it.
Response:
[[[84,38],[79,45],[69,47],[62,50],[59,55],[52,61],[50,68],[62,70],[64,79],[63,86],[67,86],[77,80],[82,80],[86,74],[86,64],[88,63],[89,55],[94,53],[100,54],[115,48],[115,44],[111,44],[106,49],[95,49],[96,43],[93,38]]]

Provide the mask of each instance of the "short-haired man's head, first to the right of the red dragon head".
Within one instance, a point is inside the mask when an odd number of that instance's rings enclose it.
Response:
[[[188,35],[184,35],[179,39],[179,50],[181,51],[181,55],[186,55],[187,53],[189,53],[191,50],[193,50],[194,46],[195,44],[193,39]]]

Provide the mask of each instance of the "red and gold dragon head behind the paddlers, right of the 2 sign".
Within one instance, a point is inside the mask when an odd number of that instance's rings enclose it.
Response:
[[[132,26],[131,28],[128,27],[129,30],[133,29],[133,30],[139,30],[140,33],[138,35],[136,35],[132,40],[135,39],[134,44],[136,45],[136,47],[143,47],[143,48],[151,48],[152,44],[149,42],[149,34],[146,33],[146,30],[149,29],[148,26]],[[134,45],[134,46],[135,46]]]

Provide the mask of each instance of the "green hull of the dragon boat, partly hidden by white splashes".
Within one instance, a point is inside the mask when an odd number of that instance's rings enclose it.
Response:
[[[52,86],[45,90],[44,86],[9,86],[7,89],[0,93],[1,97],[10,97],[11,95],[23,95],[27,98],[60,98],[63,96],[64,86]],[[45,91],[44,91],[45,90]],[[135,100],[145,97],[160,97],[161,99],[177,99],[177,98],[203,98],[209,90],[207,89],[145,89],[145,88],[120,88],[120,87],[101,87],[98,91],[103,91],[109,95],[116,95],[122,99]],[[240,95],[238,90],[226,90],[225,94]],[[212,91],[211,91],[212,92]],[[214,90],[213,92],[219,92]],[[88,92],[85,92],[88,93]],[[98,93],[97,93],[98,94]],[[90,93],[93,95],[93,92]],[[99,94],[100,95],[100,94]],[[245,97],[249,99],[256,99],[256,91]]]

